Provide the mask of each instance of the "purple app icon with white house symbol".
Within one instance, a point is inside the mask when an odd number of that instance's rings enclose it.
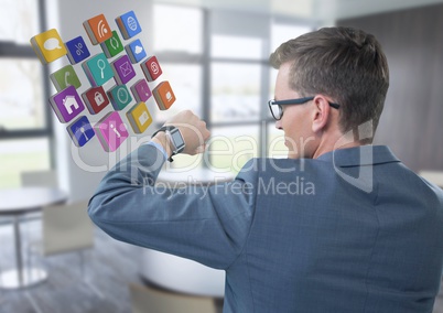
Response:
[[[73,120],[85,109],[85,105],[74,86],[52,96],[50,104],[61,122]]]

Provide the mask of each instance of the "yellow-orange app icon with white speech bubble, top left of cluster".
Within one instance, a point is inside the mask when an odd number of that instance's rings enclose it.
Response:
[[[57,30],[52,29],[31,39],[31,45],[42,64],[53,62],[67,51]]]

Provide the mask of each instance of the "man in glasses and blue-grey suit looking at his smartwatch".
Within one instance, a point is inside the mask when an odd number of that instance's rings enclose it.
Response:
[[[288,159],[250,160],[207,190],[156,186],[166,159],[205,150],[205,122],[184,111],[107,173],[90,217],[118,240],[224,269],[224,312],[431,312],[443,193],[371,145],[389,85],[379,43],[322,29],[271,64]]]

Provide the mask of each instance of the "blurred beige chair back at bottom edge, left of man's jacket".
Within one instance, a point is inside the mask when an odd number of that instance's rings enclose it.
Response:
[[[129,284],[132,313],[216,313],[212,298],[180,294],[150,285]]]

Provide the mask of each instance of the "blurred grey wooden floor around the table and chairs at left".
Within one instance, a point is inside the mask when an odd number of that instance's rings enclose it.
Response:
[[[26,234],[39,234],[37,224],[32,224],[22,227],[24,239]],[[0,289],[0,313],[130,313],[128,284],[143,283],[138,273],[139,256],[140,248],[96,229],[96,248],[86,255],[84,276],[79,253],[46,258],[39,265],[50,272],[47,281],[21,291]],[[0,270],[12,268],[13,261],[12,227],[0,225]],[[443,313],[443,292],[435,300],[433,313]]]

